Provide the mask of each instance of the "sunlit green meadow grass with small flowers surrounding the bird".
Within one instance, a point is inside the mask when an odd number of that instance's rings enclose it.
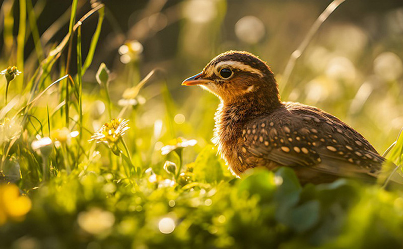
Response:
[[[209,141],[217,100],[190,94],[185,98],[190,104],[180,105],[177,90],[158,69],[132,86],[126,75],[139,71],[140,50],[129,43],[125,54],[131,62],[115,73],[101,64],[93,77],[99,86],[88,87],[85,73],[94,66],[105,6],[95,3],[79,19],[79,1],[74,0],[69,31],[52,46],[41,43],[32,4],[19,1],[17,46],[11,49],[16,61],[10,56],[0,63],[16,64],[23,72],[6,74],[0,88],[5,93],[0,100],[5,103],[0,105],[0,248],[403,246],[400,187],[385,190],[382,183],[346,179],[302,187],[294,172],[285,168],[234,178]],[[219,14],[222,22],[224,14]],[[330,14],[325,11],[327,17]],[[3,35],[10,41],[14,16],[5,15]],[[92,15],[98,21],[84,47],[83,28]],[[24,61],[27,16],[35,66]],[[294,65],[294,75],[302,75],[302,82],[313,73],[296,60],[307,60],[302,52],[314,49],[308,43],[317,25],[300,46],[301,54],[286,67],[283,98],[292,99],[298,90],[291,74]],[[72,73],[73,64],[77,74]],[[351,109],[350,101],[360,99],[358,93],[351,96],[357,89],[348,79],[328,81],[346,88],[340,90],[339,102],[327,101],[336,112]],[[397,80],[388,84],[382,94],[393,96]],[[377,105],[379,96],[371,91],[374,99],[363,100],[365,106]],[[304,94],[299,98],[304,101]],[[400,100],[394,101],[398,110]],[[359,113],[367,112],[363,107]],[[379,141],[387,131],[372,120],[368,117],[356,125],[366,132],[380,130],[371,133]],[[383,147],[389,146],[382,141]],[[387,152],[389,160],[401,165],[403,136],[397,136]]]

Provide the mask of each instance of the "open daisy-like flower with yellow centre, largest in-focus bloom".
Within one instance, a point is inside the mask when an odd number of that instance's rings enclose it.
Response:
[[[125,131],[130,127],[127,127],[128,120],[125,119],[112,119],[109,123],[102,125],[101,129],[94,133],[90,141],[95,140],[97,143],[104,142],[107,144],[116,143]]]

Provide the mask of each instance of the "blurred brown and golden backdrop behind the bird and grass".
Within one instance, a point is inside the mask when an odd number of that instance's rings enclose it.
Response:
[[[11,0],[3,2],[2,15],[7,9],[5,7],[13,3]],[[218,100],[200,89],[180,87],[180,82],[199,72],[221,52],[247,50],[272,67],[280,81],[284,101],[315,105],[338,116],[383,152],[403,124],[401,1],[343,3],[313,36],[297,60],[287,85],[282,86],[282,74],[290,55],[329,3],[104,1],[106,19],[93,63],[83,76],[84,89],[91,92],[96,87],[95,72],[101,62],[105,62],[116,76],[110,88],[115,102],[124,88],[136,85],[149,71],[160,68],[154,84],[147,85],[142,91],[148,100],[143,107],[145,116],[140,117],[142,125],[153,124],[163,115],[164,108],[159,106],[162,103],[161,91],[158,82],[155,83],[163,79],[178,107],[176,111],[183,114],[186,121],[191,121],[192,128],[189,127],[188,133],[178,135],[201,135],[209,139],[213,127],[211,117]],[[71,3],[39,0],[33,4],[46,52],[68,32]],[[90,5],[89,1],[79,1],[78,17],[85,14]],[[12,11],[18,15],[18,1]],[[49,32],[49,27],[56,21],[59,22],[56,30]],[[90,17],[83,25],[83,56],[96,21],[96,17]],[[15,34],[17,24],[18,19],[15,20]],[[4,29],[1,31],[5,32]],[[119,54],[121,45],[135,40],[144,48],[132,56],[136,58]],[[15,62],[13,57],[6,59],[12,46],[4,40],[0,42],[3,51],[1,67]],[[35,67],[33,52],[32,36],[28,36],[25,56],[32,62],[26,63],[28,68]],[[76,70],[74,63],[71,67]],[[32,72],[26,70],[24,77],[30,74]],[[200,129],[201,133],[195,132]]]

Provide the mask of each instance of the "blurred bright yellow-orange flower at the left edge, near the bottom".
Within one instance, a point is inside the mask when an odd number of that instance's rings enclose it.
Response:
[[[0,185],[0,225],[8,220],[21,221],[29,210],[31,200],[21,196],[16,185]]]

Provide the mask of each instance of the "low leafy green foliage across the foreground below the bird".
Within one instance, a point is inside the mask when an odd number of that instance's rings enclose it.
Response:
[[[53,248],[399,248],[403,201],[376,186],[338,180],[301,187],[290,169],[191,189],[136,183],[81,165],[32,190],[23,222],[0,230],[3,245]],[[217,179],[219,180],[219,179]],[[203,183],[203,184],[202,184]],[[101,210],[101,211],[100,211]],[[85,216],[86,219],[83,218]],[[111,216],[112,218],[108,218]],[[161,220],[174,221],[161,232]],[[109,219],[105,222],[105,219]]]

